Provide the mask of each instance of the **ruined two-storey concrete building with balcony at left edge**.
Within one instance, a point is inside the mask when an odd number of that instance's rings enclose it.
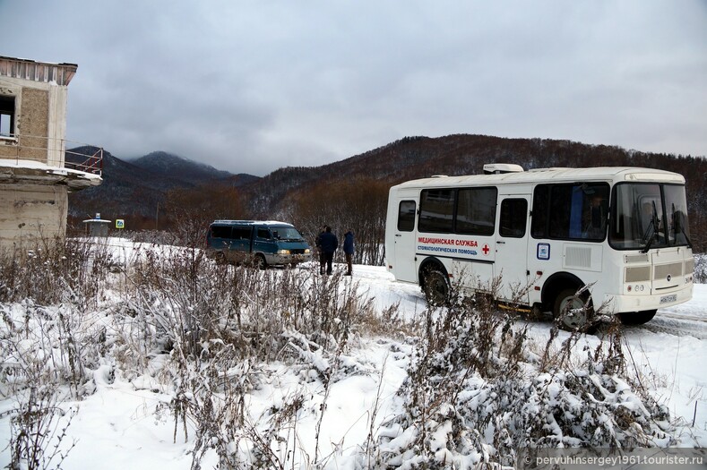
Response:
[[[102,181],[103,150],[65,140],[77,68],[0,56],[0,251],[64,239],[68,193]]]

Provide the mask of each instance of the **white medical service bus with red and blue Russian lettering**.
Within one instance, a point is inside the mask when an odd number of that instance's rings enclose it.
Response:
[[[564,317],[573,328],[586,323],[577,307],[587,301],[642,324],[692,297],[682,175],[509,164],[484,172],[390,190],[387,269],[421,286],[429,301],[442,302],[452,288],[487,290],[521,309],[575,312]]]

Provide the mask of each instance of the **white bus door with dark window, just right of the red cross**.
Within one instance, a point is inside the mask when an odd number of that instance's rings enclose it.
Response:
[[[500,194],[494,277],[501,278],[498,298],[528,303],[528,237],[530,194]]]

